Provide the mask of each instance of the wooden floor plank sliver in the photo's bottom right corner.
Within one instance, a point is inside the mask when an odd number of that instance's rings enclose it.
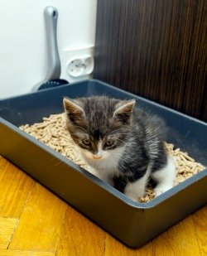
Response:
[[[207,205],[192,215],[200,254],[207,255]]]

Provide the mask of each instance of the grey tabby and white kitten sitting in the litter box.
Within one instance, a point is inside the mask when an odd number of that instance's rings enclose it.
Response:
[[[150,179],[156,196],[170,189],[176,171],[163,148],[164,122],[134,105],[106,96],[64,99],[67,128],[94,175],[138,200]]]

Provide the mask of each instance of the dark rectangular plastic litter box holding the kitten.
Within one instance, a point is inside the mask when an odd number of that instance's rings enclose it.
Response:
[[[85,80],[0,100],[0,154],[124,244],[137,248],[205,205],[207,170],[150,202],[138,203],[18,128],[63,112],[64,96],[76,98],[94,94],[136,99],[140,107],[165,119],[170,128],[168,142],[207,166],[206,123],[99,80]]]

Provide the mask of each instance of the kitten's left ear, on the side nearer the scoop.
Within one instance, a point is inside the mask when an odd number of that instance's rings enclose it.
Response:
[[[63,99],[63,105],[65,108],[65,113],[71,122],[82,120],[84,118],[84,109],[82,109],[76,100],[71,100],[68,98]]]

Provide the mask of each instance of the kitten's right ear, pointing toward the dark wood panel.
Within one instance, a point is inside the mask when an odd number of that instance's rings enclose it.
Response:
[[[136,101],[134,99],[130,101],[123,101],[117,104],[117,109],[113,113],[114,118],[118,118],[123,123],[127,123],[131,117],[133,107]]]

